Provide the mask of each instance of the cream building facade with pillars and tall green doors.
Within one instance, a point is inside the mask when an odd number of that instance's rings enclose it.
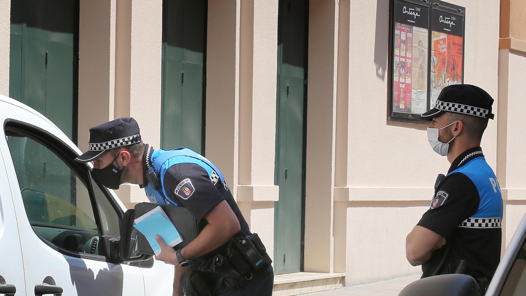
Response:
[[[466,12],[464,83],[495,99],[482,148],[504,199],[504,250],[526,211],[526,5],[450,2]],[[419,274],[405,238],[449,163],[425,123],[388,120],[389,0],[56,3],[2,0],[2,94],[81,150],[89,127],[131,116],[155,148],[204,154],[274,254],[276,293]],[[117,194],[147,200],[135,185]]]

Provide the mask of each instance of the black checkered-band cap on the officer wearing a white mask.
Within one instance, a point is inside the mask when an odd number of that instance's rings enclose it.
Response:
[[[482,88],[470,84],[455,84],[444,87],[433,108],[418,118],[431,121],[444,112],[454,112],[493,119],[491,105],[493,98]]]

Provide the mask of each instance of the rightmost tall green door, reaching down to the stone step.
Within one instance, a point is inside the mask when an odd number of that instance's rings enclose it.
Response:
[[[280,0],[276,115],[275,271],[299,272],[305,217],[308,3]]]

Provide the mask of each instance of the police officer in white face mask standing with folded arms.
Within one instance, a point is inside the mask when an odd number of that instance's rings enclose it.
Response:
[[[469,274],[487,288],[501,254],[502,197],[480,141],[493,119],[493,99],[473,85],[442,89],[434,107],[420,115],[430,121],[428,140],[451,167],[439,175],[431,205],[406,239],[406,256],[422,265],[422,278]]]

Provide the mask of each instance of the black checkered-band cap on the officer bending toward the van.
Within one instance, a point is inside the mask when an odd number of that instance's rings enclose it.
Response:
[[[108,150],[140,143],[139,125],[132,117],[122,117],[89,129],[88,151],[77,157],[88,162],[103,156]]]

